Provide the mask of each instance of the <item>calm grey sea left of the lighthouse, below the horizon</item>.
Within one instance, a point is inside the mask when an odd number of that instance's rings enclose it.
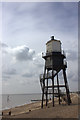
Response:
[[[2,95],[2,110],[10,109],[25,104],[41,100],[41,93],[33,94],[3,94]],[[0,108],[1,109],[1,108]]]

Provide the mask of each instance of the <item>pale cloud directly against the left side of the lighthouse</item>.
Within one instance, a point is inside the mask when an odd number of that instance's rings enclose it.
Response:
[[[44,66],[44,60],[42,59],[42,53],[37,53],[35,54],[35,56],[33,57],[33,61],[28,62],[27,65],[27,69],[24,73],[22,74],[22,77],[27,77],[27,78],[31,78],[31,77],[39,77],[40,73],[43,72]]]

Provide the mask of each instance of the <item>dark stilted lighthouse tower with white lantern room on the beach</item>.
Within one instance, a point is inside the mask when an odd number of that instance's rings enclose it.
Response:
[[[48,103],[48,95],[52,94],[52,103],[54,106],[54,97],[59,98],[59,104],[61,102],[61,88],[66,90],[66,101],[68,105],[71,103],[69,86],[66,76],[66,55],[61,49],[61,41],[54,39],[54,36],[51,36],[51,40],[46,43],[46,53],[42,53],[42,58],[45,60],[44,73],[40,75],[40,83],[42,88],[42,105],[44,102],[44,95],[46,96],[46,106]],[[60,84],[59,72],[63,71],[64,85]],[[56,78],[56,79],[55,79]],[[56,80],[56,85],[55,85]],[[51,81],[51,84],[49,82]],[[52,92],[49,92],[51,89]]]

